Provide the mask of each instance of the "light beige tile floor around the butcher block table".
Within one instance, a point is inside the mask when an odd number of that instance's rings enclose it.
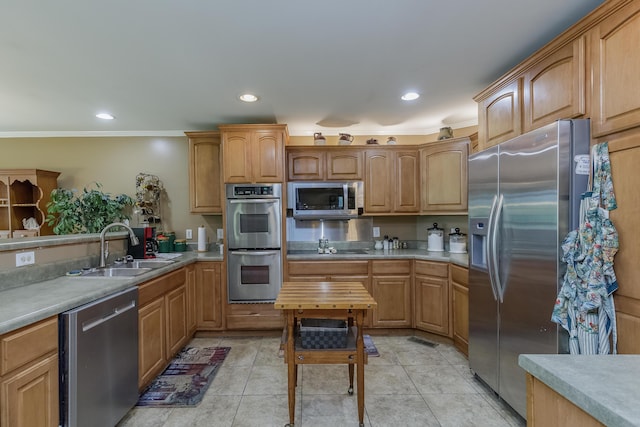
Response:
[[[469,371],[454,347],[406,336],[374,336],[380,357],[365,367],[365,426],[517,426],[525,422]],[[287,369],[279,338],[194,338],[231,351],[200,405],[135,407],[118,427],[282,427],[289,421]],[[296,426],[358,426],[345,365],[304,365],[296,389]]]

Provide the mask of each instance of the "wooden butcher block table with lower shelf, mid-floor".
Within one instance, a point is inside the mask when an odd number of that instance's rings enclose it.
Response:
[[[285,363],[288,367],[289,424],[294,425],[298,365],[347,364],[349,394],[353,394],[353,365],[357,367],[358,419],[364,426],[364,351],[362,324],[367,310],[377,303],[360,282],[283,282],[275,308],[286,318]],[[347,321],[345,348],[304,349],[296,343],[298,319],[343,319]]]

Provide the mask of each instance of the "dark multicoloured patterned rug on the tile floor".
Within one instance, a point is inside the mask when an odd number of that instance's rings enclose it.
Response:
[[[196,406],[231,347],[185,347],[142,392],[137,406]]]

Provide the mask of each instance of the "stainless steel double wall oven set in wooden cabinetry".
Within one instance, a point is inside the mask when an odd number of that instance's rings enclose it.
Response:
[[[227,184],[230,303],[275,301],[282,285],[282,184]]]

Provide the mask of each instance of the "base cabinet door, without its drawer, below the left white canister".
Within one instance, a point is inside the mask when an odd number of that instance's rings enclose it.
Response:
[[[416,327],[449,335],[449,281],[446,278],[416,276]]]

